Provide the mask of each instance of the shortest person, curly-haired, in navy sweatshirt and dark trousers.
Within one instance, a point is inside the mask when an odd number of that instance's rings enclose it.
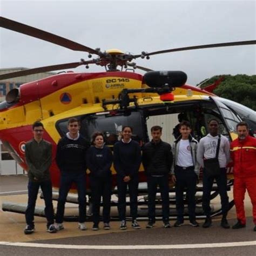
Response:
[[[95,132],[92,143],[86,152],[86,164],[90,170],[90,184],[92,193],[92,230],[99,229],[100,199],[103,198],[104,230],[109,230],[110,204],[112,190],[112,174],[110,167],[113,157],[109,147],[104,145],[103,133]]]

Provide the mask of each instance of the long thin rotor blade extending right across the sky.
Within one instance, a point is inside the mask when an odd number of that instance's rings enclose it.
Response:
[[[188,47],[183,47],[183,48],[176,48],[176,49],[169,49],[169,50],[162,50],[162,51],[147,52],[145,54],[145,56],[156,55],[156,54],[167,53],[167,52],[175,52],[175,51],[187,51],[187,50],[217,48],[217,47],[235,46],[235,45],[250,45],[250,44],[256,44],[256,40],[230,42],[230,43],[220,43],[220,44],[204,44],[204,45],[197,45],[197,46],[188,46]],[[140,56],[141,55],[134,55],[135,58],[138,58]]]

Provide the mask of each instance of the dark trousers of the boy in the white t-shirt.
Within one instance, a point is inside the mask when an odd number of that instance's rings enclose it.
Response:
[[[197,174],[194,172],[194,167],[183,169],[182,167],[175,166],[174,169],[176,176],[175,193],[176,193],[176,210],[177,220],[183,222],[184,220],[184,190],[187,188],[186,198],[188,201],[188,215],[190,221],[196,219],[196,185]]]

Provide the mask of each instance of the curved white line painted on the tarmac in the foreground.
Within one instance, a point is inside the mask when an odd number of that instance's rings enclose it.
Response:
[[[185,245],[57,245],[57,244],[33,244],[32,242],[1,242],[0,245],[60,248],[77,250],[149,250],[149,249],[194,249],[194,248],[216,248],[216,247],[238,247],[256,245],[256,241],[244,242],[216,242],[212,244],[185,244]]]

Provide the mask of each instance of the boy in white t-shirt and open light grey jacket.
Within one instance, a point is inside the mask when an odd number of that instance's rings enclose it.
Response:
[[[191,136],[191,124],[187,121],[180,123],[181,135],[174,141],[172,146],[173,165],[172,180],[175,184],[177,221],[174,227],[184,224],[184,199],[183,194],[187,188],[188,215],[190,225],[198,227],[196,221],[196,185],[199,175],[197,163],[198,142]]]

